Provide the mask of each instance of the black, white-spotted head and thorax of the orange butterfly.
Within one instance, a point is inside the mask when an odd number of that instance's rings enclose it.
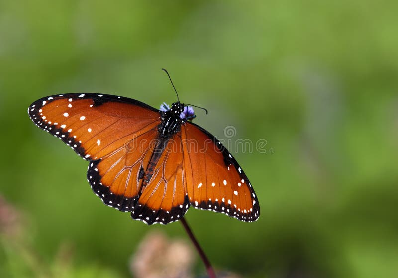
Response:
[[[170,110],[162,113],[162,123],[159,125],[161,138],[169,138],[180,130],[182,119],[181,113],[184,111],[184,105],[181,102],[174,102]]]

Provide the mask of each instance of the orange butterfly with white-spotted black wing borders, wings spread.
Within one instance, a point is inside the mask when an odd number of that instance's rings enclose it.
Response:
[[[90,162],[87,180],[103,203],[135,220],[171,223],[190,206],[246,222],[259,217],[242,168],[180,101],[158,110],[121,96],[70,93],[41,98],[28,113]]]

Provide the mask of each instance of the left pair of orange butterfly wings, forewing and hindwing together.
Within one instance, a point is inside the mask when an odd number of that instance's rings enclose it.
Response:
[[[87,178],[105,204],[131,211],[161,123],[157,109],[125,97],[77,93],[37,100],[28,113],[91,161]]]

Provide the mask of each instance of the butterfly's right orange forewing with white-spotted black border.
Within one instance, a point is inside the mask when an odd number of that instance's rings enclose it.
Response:
[[[241,221],[260,215],[257,196],[249,179],[228,150],[198,125],[181,126],[184,173],[191,205],[227,214]]]

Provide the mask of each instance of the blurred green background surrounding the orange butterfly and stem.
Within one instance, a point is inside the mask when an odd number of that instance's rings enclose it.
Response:
[[[0,0],[0,277],[139,277],[148,236],[181,241],[190,251],[171,254],[192,252],[181,268],[205,276],[180,223],[147,226],[104,206],[87,162],[26,113],[65,92],[171,103],[162,67],[182,101],[209,110],[195,122],[219,139],[234,126],[233,140],[267,140],[266,153],[234,153],[257,222],[186,215],[218,271],[398,277],[397,10],[393,0]]]

